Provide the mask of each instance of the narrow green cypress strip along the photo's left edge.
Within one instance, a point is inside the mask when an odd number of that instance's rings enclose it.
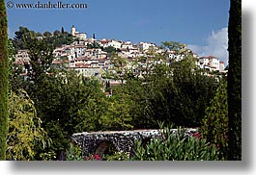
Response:
[[[5,1],[0,0],[0,160],[6,160],[8,134],[8,33]]]

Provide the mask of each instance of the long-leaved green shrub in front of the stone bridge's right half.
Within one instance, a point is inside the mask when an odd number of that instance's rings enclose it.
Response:
[[[172,132],[166,127],[161,137],[152,139],[145,147],[135,141],[133,161],[217,161],[219,150],[214,144],[199,137],[189,136],[185,129]]]

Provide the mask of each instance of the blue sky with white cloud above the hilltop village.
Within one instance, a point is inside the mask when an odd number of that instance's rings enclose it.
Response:
[[[15,3],[57,3],[58,0],[13,0]],[[8,3],[9,0],[6,0]],[[62,0],[84,3],[87,9],[8,9],[9,34],[19,26],[36,32],[71,31],[88,37],[185,43],[200,56],[213,55],[227,63],[229,0]]]

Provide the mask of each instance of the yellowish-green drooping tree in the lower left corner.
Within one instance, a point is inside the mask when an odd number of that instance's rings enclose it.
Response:
[[[49,146],[51,139],[42,128],[42,119],[37,116],[34,102],[23,89],[9,98],[9,134],[7,160],[35,160],[36,147]]]

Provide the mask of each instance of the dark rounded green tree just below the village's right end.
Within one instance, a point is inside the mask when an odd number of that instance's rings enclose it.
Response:
[[[214,96],[215,78],[204,75],[191,57],[173,63],[171,70],[173,89],[170,93],[166,89],[162,94],[170,100],[168,116],[179,126],[198,127]]]

